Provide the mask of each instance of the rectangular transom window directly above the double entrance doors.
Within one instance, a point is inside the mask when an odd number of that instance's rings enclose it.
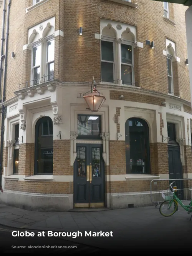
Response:
[[[99,137],[101,133],[100,116],[78,115],[78,136]]]

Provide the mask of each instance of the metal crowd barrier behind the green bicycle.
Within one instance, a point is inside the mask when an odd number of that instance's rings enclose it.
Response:
[[[192,178],[187,179],[159,179],[151,181],[151,202],[159,205],[164,201],[162,198],[162,191],[169,191],[170,183],[173,181],[172,186],[177,186],[179,191],[176,192],[176,196],[181,201],[190,201],[192,198]]]

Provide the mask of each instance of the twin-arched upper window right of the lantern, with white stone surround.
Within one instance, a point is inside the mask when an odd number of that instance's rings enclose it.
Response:
[[[104,25],[101,35],[101,82],[134,86],[136,29],[114,22]]]

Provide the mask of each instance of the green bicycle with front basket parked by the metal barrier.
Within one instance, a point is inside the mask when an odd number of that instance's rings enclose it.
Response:
[[[180,206],[182,206],[182,208],[185,211],[187,211],[188,214],[192,213],[192,199],[189,205],[184,205],[182,201],[180,201],[180,199],[175,195],[175,192],[178,191],[179,189],[177,189],[177,186],[173,186],[172,188],[172,184],[174,182],[170,184],[170,188],[172,189],[173,192],[171,190],[167,190],[167,191],[162,191],[161,193],[164,201],[161,203],[159,207],[159,212],[164,217],[172,216],[177,211],[179,204]],[[165,192],[168,192],[168,194],[165,195]],[[192,215],[191,215],[191,218],[192,218]]]

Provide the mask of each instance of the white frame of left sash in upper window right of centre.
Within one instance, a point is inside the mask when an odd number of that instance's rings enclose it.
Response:
[[[117,79],[117,74],[116,74],[116,44],[115,44],[115,38],[114,37],[102,37],[101,42],[106,41],[106,42],[112,42],[113,43],[113,62],[102,60],[102,47],[101,47],[101,63],[106,62],[106,63],[113,63],[113,83]],[[102,78],[102,72],[101,72],[101,78]],[[105,82],[101,81],[103,83],[110,83],[110,82]]]

